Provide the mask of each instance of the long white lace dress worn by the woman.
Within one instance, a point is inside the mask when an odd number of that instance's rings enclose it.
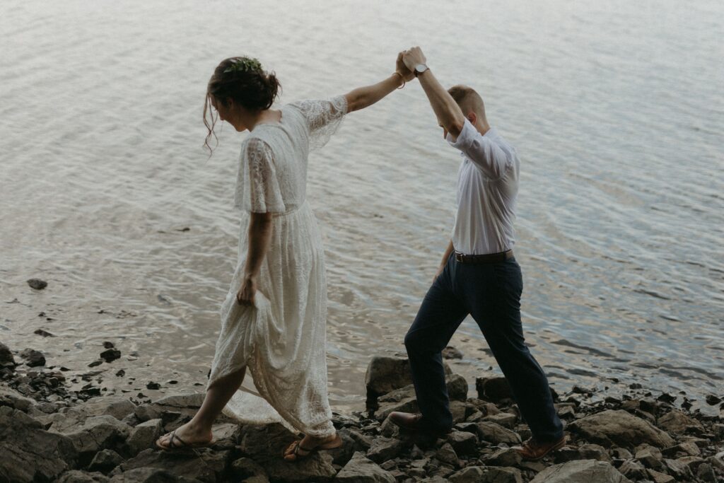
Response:
[[[222,330],[207,388],[246,366],[264,400],[237,391],[224,413],[242,422],[279,421],[305,434],[332,434],[327,400],[327,278],[324,248],[306,201],[307,159],[347,112],[343,96],[282,107],[282,119],[257,125],[241,147],[235,203],[242,210],[239,258],[222,305]],[[249,212],[271,212],[268,253],[256,306],[240,306]],[[272,409],[273,408],[273,409]]]

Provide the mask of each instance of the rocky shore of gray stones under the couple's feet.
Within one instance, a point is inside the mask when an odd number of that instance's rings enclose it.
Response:
[[[454,356],[454,350],[450,350]],[[113,348],[105,356],[113,358]],[[450,354],[449,354],[450,355]],[[88,379],[90,381],[90,377]],[[387,416],[416,411],[408,362],[372,358],[366,413],[334,415],[342,448],[287,463],[296,435],[279,424],[219,419],[211,448],[164,452],[153,442],[188,421],[203,394],[159,400],[101,395],[89,382],[67,390],[43,354],[0,343],[0,482],[723,482],[724,404],[719,416],[691,412],[682,395],[632,385],[623,397],[573,387],[554,395],[568,443],[542,461],[521,461],[513,446],[529,429],[505,379],[468,381],[448,368],[455,418],[445,438],[400,434]]]

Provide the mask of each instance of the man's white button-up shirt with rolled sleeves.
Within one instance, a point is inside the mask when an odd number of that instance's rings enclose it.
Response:
[[[457,140],[463,163],[458,170],[458,209],[452,246],[466,255],[500,253],[515,244],[515,201],[521,161],[497,130],[482,135],[465,120]]]

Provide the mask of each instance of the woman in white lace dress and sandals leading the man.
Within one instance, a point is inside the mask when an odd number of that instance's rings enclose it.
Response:
[[[327,282],[324,248],[306,201],[307,158],[311,148],[327,143],[345,114],[411,78],[400,55],[395,72],[379,83],[329,101],[270,109],[279,82],[256,59],[232,57],[216,67],[203,112],[205,144],[214,135],[214,110],[238,132],[249,131],[235,193],[247,235],[240,236],[239,261],[222,305],[206,398],[191,421],[156,441],[159,448],[210,445],[211,424],[238,397],[247,367],[260,395],[304,434],[285,450],[287,461],[342,444],[327,400]],[[224,412],[239,416],[234,408]]]

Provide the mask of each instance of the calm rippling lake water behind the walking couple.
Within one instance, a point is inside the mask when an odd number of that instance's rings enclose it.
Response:
[[[701,404],[724,386],[723,5],[4,1],[0,340],[104,370],[111,391],[200,390],[236,263],[243,140],[224,126],[207,161],[212,70],[257,56],[286,103],[381,80],[420,45],[518,149],[524,327],[553,387],[639,382]],[[336,408],[362,408],[371,356],[404,352],[459,163],[416,83],[313,154]],[[88,369],[106,340],[123,357]],[[451,345],[471,384],[498,372],[471,319]]]

